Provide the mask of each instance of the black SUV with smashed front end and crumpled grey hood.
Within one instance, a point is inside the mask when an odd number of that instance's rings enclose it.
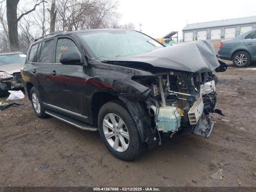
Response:
[[[140,32],[103,29],[36,39],[22,77],[38,117],[99,130],[114,156],[134,160],[162,136],[210,136],[221,70],[208,41],[165,47]]]

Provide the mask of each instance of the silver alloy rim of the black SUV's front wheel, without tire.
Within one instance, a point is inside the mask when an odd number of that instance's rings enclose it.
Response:
[[[103,132],[108,144],[118,151],[124,152],[129,146],[129,133],[124,121],[114,113],[107,114],[103,119]]]

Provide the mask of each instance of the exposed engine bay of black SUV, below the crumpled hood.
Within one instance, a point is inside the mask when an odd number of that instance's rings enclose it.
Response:
[[[154,118],[155,131],[173,136],[180,130],[208,138],[214,122],[216,83],[213,72],[162,72],[154,77],[133,77],[132,80],[150,88],[145,101]],[[220,110],[216,112],[221,114]]]

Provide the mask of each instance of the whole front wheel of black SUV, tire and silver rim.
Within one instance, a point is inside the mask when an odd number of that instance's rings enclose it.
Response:
[[[117,158],[132,161],[143,152],[138,129],[125,106],[104,104],[98,114],[98,128],[106,148]]]

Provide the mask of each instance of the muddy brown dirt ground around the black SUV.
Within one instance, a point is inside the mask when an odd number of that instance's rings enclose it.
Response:
[[[98,132],[40,119],[27,96],[0,112],[0,186],[256,186],[256,65],[217,73],[214,130],[164,138],[134,162],[118,160]],[[7,98],[7,97],[6,97]],[[0,98],[5,101],[6,98]],[[222,120],[223,119],[223,120]],[[223,169],[224,180],[212,179]],[[239,181],[238,181],[239,180]]]

